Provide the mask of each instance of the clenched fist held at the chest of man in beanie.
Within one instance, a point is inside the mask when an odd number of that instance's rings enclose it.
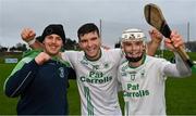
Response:
[[[45,62],[47,62],[48,60],[50,60],[50,55],[48,55],[45,52],[39,53],[36,57],[35,61],[38,65],[42,65]]]

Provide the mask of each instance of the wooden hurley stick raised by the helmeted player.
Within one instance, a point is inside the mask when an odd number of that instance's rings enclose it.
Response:
[[[162,15],[162,12],[158,5],[152,4],[152,3],[146,4],[144,9],[144,14],[145,14],[146,22],[149,25],[158,29],[166,38],[170,38],[171,29],[169,25],[167,24]],[[183,59],[183,61],[189,67],[192,67],[194,64],[191,61],[187,53],[185,52],[184,48],[180,47],[175,49],[176,49],[176,52],[180,54],[180,56]]]

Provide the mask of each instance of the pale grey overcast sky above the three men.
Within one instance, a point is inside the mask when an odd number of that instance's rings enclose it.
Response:
[[[99,26],[102,21],[102,41],[109,47],[118,41],[127,28],[150,26],[144,17],[147,3],[158,4],[172,29],[196,40],[196,0],[0,0],[0,44],[12,47],[21,40],[21,30],[32,27],[37,35],[51,23],[61,23],[66,37],[77,40],[76,31],[85,23]],[[195,38],[195,39],[194,39]]]

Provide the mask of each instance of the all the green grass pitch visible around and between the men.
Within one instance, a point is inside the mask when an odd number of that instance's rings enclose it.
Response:
[[[167,57],[171,56],[166,52]],[[191,57],[196,60],[196,53],[192,53]],[[17,99],[10,99],[3,94],[3,82],[11,73],[15,64],[0,64],[0,115],[16,114]],[[81,114],[81,102],[75,80],[70,80],[68,92],[70,115]],[[120,103],[123,108],[122,94],[119,94]],[[166,99],[168,115],[194,115],[196,114],[196,74],[189,78],[168,78],[166,82]],[[123,109],[122,109],[123,111]]]

